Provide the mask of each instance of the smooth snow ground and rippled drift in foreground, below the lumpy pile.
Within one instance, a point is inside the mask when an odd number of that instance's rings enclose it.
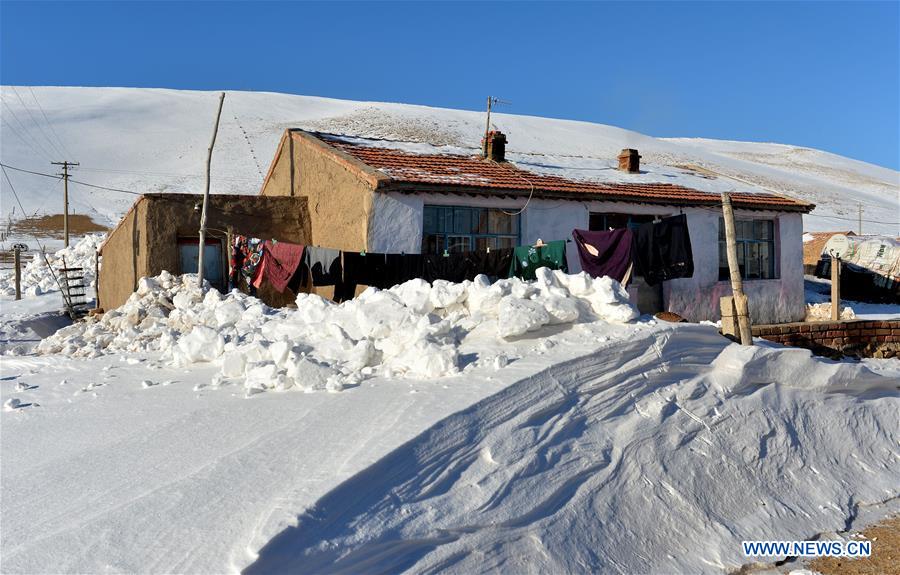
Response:
[[[483,322],[459,356],[249,398],[156,351],[5,359],[38,405],[0,418],[3,570],[718,573],[896,508],[896,361],[648,318]]]

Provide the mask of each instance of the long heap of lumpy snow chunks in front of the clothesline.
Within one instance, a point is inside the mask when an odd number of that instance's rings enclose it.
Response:
[[[200,290],[196,276],[163,272],[142,278],[122,307],[59,330],[37,350],[76,357],[162,352],[177,366],[218,361],[213,385],[239,380],[250,394],[340,391],[373,375],[458,373],[460,340],[481,325],[496,325],[508,339],[544,325],[638,316],[618,282],[546,268],[535,282],[411,280],[342,304],[310,294],[296,303],[296,310],[275,310],[237,291]]]

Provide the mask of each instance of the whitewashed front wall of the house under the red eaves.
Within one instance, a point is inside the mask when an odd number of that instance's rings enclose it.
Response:
[[[524,199],[484,198],[452,194],[376,193],[369,219],[368,249],[373,253],[419,253],[422,247],[423,208],[425,205],[472,206],[522,209]],[[521,216],[521,241],[531,244],[539,238],[547,241],[571,239],[573,229],[587,229],[591,212],[677,215],[679,208],[629,204],[623,202],[577,202],[532,199]],[[729,282],[719,281],[719,217],[714,208],[684,208],[688,217],[694,276],[663,284],[667,310],[692,321],[720,318],[719,297],[730,295]],[[777,280],[744,282],[750,298],[750,313],[755,323],[781,323],[802,320],[805,313],[803,291],[803,223],[799,214],[745,212],[735,217],[772,218],[776,221]],[[569,271],[581,271],[578,251],[573,242],[566,245]]]

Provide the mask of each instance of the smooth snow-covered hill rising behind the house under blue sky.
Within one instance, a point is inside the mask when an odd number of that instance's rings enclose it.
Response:
[[[54,173],[51,161],[80,162],[77,181],[132,192],[200,192],[217,93],[146,88],[0,89],[4,164]],[[638,148],[643,161],[752,183],[817,204],[806,230],[900,233],[900,173],[827,152],[781,144],[662,139],[570,120],[494,114],[514,153],[607,160]],[[265,92],[228,92],[213,160],[213,193],[257,193],[282,131],[306,128],[475,149],[482,112],[354,102]],[[29,214],[60,213],[61,182],[10,171]],[[135,196],[73,184],[75,213],[115,224]],[[8,184],[0,214],[21,217]],[[877,223],[881,222],[881,223]]]

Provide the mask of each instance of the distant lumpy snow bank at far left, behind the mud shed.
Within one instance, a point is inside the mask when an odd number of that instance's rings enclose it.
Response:
[[[94,254],[106,234],[87,234],[81,238],[78,243],[63,248],[54,254],[47,254],[47,260],[53,267],[54,271],[63,267],[63,260],[66,267],[82,268],[84,270],[84,281],[86,286],[94,285]],[[57,272],[58,273],[58,272]],[[59,291],[53,274],[47,268],[47,263],[40,253],[35,253],[31,261],[22,268],[22,294],[25,296],[38,296],[44,293]],[[10,271],[0,275],[0,295],[15,296],[16,295],[16,278],[14,272]]]

